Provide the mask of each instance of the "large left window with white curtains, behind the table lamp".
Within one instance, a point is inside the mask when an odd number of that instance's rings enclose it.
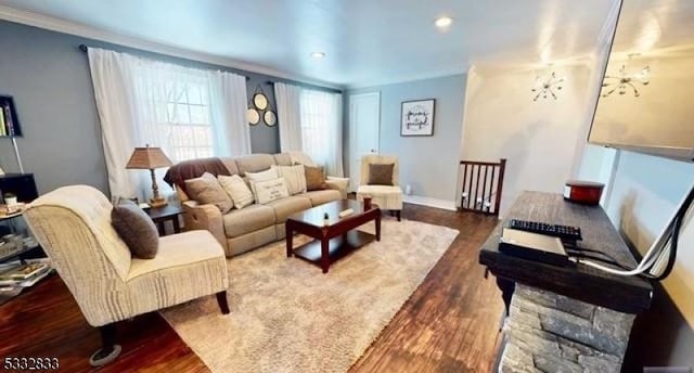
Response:
[[[126,169],[136,146],[159,146],[174,163],[250,153],[245,77],[97,48],[88,55],[113,196],[151,195],[149,172]],[[165,171],[157,184],[167,195]]]

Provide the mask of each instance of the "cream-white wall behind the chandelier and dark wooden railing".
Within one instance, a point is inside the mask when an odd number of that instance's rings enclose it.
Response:
[[[566,78],[564,88],[557,100],[535,102],[535,70],[475,67],[468,73],[461,157],[507,159],[502,215],[524,190],[561,193],[577,147],[583,146],[591,69],[588,64],[557,66],[540,74],[551,70]]]

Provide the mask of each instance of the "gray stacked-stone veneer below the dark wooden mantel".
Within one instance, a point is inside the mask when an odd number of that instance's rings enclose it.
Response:
[[[633,319],[517,284],[500,372],[619,372]]]

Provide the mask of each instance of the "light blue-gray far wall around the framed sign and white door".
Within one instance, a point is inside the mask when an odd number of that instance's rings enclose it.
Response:
[[[345,93],[344,163],[349,172],[349,94],[381,92],[380,151],[396,154],[400,184],[415,196],[455,200],[466,75],[349,90]],[[401,137],[403,101],[436,99],[433,137]]]

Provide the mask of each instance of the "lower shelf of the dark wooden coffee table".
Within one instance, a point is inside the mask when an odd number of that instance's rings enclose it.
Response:
[[[375,234],[352,230],[344,235],[330,240],[329,255],[330,263],[334,263],[349,253],[376,240]],[[294,255],[304,260],[321,266],[321,240],[313,240],[293,250]]]

